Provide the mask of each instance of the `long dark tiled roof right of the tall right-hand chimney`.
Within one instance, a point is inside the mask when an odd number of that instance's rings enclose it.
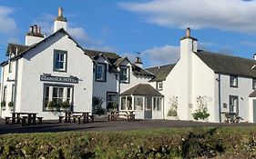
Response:
[[[215,73],[256,78],[256,68],[251,68],[256,65],[256,60],[204,51],[200,51],[196,55]]]

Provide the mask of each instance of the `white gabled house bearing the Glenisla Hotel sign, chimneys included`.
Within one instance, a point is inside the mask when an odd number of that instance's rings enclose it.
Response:
[[[36,112],[53,119],[57,114],[49,104],[64,102],[75,111],[91,111],[94,61],[68,35],[61,8],[54,28],[45,38],[40,27],[31,26],[25,45],[8,45],[8,60],[1,64],[0,116]]]

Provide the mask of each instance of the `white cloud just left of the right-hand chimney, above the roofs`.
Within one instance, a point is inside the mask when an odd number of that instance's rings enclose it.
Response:
[[[143,51],[141,58],[148,62],[146,66],[173,64],[179,60],[179,46],[155,46]]]

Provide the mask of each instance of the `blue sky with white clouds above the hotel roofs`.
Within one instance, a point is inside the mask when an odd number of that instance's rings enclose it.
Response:
[[[53,34],[58,7],[78,44],[131,61],[140,53],[144,67],[176,63],[187,27],[199,49],[256,53],[256,0],[1,0],[0,61],[8,43],[25,44],[30,25]]]

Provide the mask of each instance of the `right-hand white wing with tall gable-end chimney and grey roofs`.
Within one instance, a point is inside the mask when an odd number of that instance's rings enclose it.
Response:
[[[198,40],[190,36],[188,28],[180,39],[178,63],[147,69],[156,75],[149,84],[165,96],[165,118],[173,102],[178,104],[180,120],[192,120],[192,113],[203,103],[210,122],[223,122],[225,113],[238,114],[244,122],[256,122],[255,59],[205,52],[197,46]]]

